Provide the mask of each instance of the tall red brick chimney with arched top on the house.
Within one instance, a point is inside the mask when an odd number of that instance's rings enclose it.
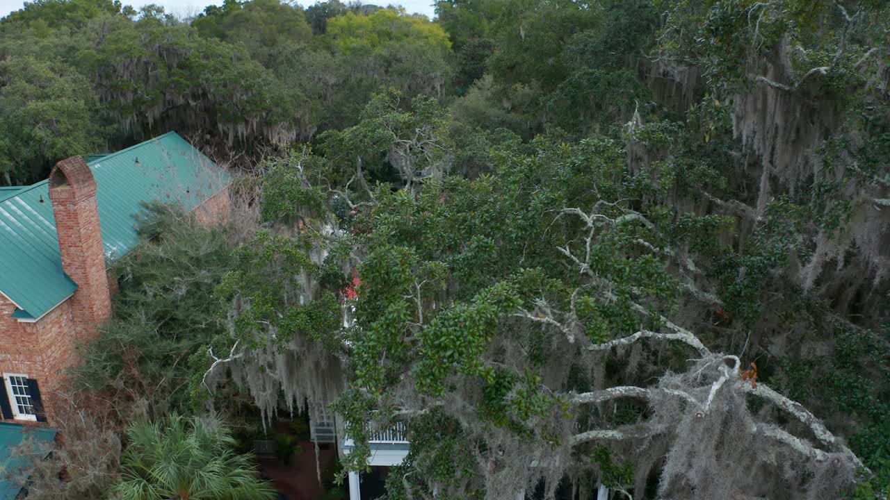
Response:
[[[77,283],[73,297],[77,335],[85,338],[94,335],[95,327],[111,314],[111,294],[96,205],[96,181],[84,158],[69,157],[53,167],[50,199],[59,233],[62,269]]]

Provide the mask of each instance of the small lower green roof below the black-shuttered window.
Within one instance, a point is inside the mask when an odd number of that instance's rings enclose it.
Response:
[[[13,500],[24,486],[20,480],[29,475],[27,456],[12,456],[12,450],[25,443],[21,451],[44,458],[53,448],[55,429],[24,427],[18,423],[0,423],[0,500]]]

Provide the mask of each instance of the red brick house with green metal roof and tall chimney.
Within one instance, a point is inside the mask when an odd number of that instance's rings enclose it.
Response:
[[[46,181],[0,189],[0,423],[52,425],[58,416],[53,394],[77,342],[111,314],[117,281],[108,266],[137,245],[142,204],[178,203],[214,222],[228,213],[230,181],[171,132],[70,157]]]

